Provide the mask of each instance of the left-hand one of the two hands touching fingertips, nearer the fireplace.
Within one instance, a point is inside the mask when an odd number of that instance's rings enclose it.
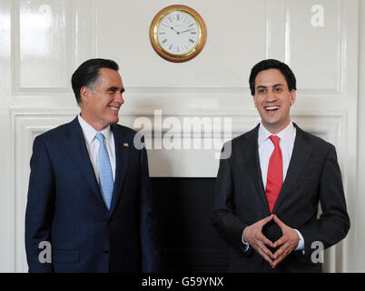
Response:
[[[247,226],[243,230],[243,239],[246,243],[249,243],[256,252],[258,252],[269,264],[273,264],[273,255],[269,248],[266,246],[273,247],[273,243],[266,237],[262,235],[262,227],[273,219],[273,215],[267,216],[251,226]]]

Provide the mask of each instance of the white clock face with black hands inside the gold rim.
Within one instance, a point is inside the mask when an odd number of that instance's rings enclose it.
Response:
[[[161,19],[157,39],[167,53],[188,55],[198,45],[200,33],[200,27],[192,15],[175,10]]]

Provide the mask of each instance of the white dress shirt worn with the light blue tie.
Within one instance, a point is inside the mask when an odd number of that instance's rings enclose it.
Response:
[[[99,183],[97,156],[100,143],[95,138],[95,135],[99,132],[96,131],[92,125],[89,125],[86,121],[84,121],[84,118],[81,117],[81,115],[78,115],[77,118],[81,125],[81,128],[83,129],[87,152],[89,153],[90,161],[92,162],[92,165],[94,167],[96,180]],[[106,150],[108,151],[110,164],[112,166],[112,171],[113,171],[113,180],[115,181],[115,144],[114,144],[113,133],[110,129],[110,125],[105,127],[102,131],[100,131],[100,133],[104,135],[104,144]]]

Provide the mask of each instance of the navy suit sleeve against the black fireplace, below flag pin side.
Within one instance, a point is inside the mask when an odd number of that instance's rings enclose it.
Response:
[[[141,150],[140,155],[142,272],[156,273],[161,271],[157,216],[145,148]]]

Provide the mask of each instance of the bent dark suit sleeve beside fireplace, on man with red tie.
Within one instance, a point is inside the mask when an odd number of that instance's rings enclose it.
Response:
[[[222,155],[224,148],[222,150]],[[214,186],[214,199],[211,214],[212,226],[218,234],[234,250],[242,255],[245,254],[242,246],[243,229],[248,226],[238,216],[234,214],[233,205],[234,184],[230,158],[221,158],[217,179]]]

